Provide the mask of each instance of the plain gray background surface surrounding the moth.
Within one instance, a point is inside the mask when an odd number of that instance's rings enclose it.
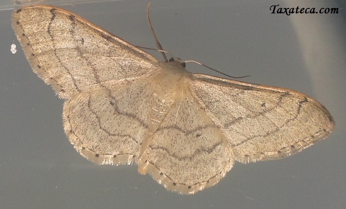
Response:
[[[343,1],[151,2],[165,50],[233,76],[251,75],[242,81],[306,93],[330,110],[335,131],[282,160],[236,163],[219,184],[196,195],[167,192],[135,165],[98,166],[75,151],[63,131],[63,101],[31,71],[10,26],[12,11],[0,11],[0,208],[345,209]],[[339,7],[340,13],[271,14],[276,4]],[[146,5],[124,0],[63,8],[129,43],[154,48]],[[221,76],[194,64],[187,69]]]

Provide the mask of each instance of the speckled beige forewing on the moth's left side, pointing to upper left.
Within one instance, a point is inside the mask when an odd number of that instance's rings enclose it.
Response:
[[[24,7],[13,12],[12,20],[33,71],[64,99],[148,76],[158,62],[58,7]]]

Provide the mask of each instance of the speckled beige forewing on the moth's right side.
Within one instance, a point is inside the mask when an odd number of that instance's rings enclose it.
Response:
[[[280,159],[325,139],[329,111],[290,89],[194,74],[191,91],[242,163]]]

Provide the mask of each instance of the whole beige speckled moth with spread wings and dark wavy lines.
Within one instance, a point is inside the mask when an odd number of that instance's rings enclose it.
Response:
[[[66,99],[65,133],[97,164],[138,164],[165,188],[194,194],[242,163],[325,139],[328,110],[289,89],[187,72],[53,6],[15,10],[33,69]]]

